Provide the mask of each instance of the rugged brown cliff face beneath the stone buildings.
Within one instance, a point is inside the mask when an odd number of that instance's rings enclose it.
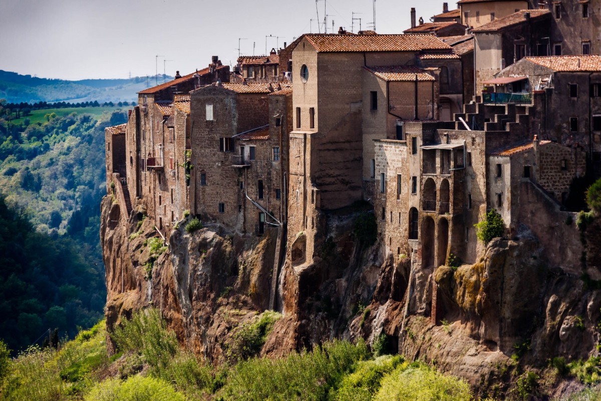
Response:
[[[118,207],[103,200],[109,330],[153,305],[186,347],[213,363],[227,360],[236,326],[269,306],[275,229],[240,236],[209,224],[190,234],[182,221],[156,251],[148,244],[159,234],[144,206],[135,204],[127,222]],[[552,357],[598,354],[601,282],[590,277],[599,274],[599,219],[582,234],[581,276],[551,265],[527,229],[492,240],[475,265],[418,271],[413,256],[395,262],[379,243],[356,237],[359,213],[322,213],[316,236],[287,246],[276,281],[283,317],[262,355],[362,337],[462,376],[480,395],[502,396],[517,375],[543,372]],[[291,263],[299,249],[312,253],[311,263]],[[566,387],[553,380],[551,388]]]

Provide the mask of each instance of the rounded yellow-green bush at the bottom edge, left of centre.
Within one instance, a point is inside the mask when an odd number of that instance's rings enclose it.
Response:
[[[167,382],[141,375],[122,382],[109,379],[97,384],[85,397],[86,401],[185,401]]]

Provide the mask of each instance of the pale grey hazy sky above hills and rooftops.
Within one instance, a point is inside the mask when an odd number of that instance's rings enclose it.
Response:
[[[318,0],[322,20],[326,1],[328,32],[351,29],[352,12],[371,29],[372,0]],[[409,28],[417,18],[442,12],[442,1],[377,0],[378,33]],[[456,8],[450,2],[450,8]],[[242,54],[265,53],[294,37],[317,32],[315,0],[0,0],[0,70],[43,78],[127,78],[159,73],[182,75],[202,69],[218,55],[235,64]],[[355,22],[355,32],[359,21]],[[272,35],[273,37],[267,37]],[[279,37],[279,38],[276,38]],[[163,60],[168,60],[163,62]]]

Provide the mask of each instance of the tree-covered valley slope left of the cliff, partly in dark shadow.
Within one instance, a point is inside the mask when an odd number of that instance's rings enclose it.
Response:
[[[125,115],[0,118],[0,338],[13,350],[45,329],[72,336],[102,316],[104,129]]]

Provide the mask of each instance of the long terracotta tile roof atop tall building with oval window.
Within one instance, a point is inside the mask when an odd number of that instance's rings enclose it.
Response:
[[[450,49],[433,35],[306,34],[317,52],[410,52]]]

